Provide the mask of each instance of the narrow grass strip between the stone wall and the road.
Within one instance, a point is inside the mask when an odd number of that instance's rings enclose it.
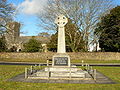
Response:
[[[46,63],[47,60],[42,59],[13,59],[13,58],[0,58],[2,62],[36,62]],[[82,60],[71,60],[71,63],[81,63]],[[120,60],[84,60],[84,63],[120,63]]]

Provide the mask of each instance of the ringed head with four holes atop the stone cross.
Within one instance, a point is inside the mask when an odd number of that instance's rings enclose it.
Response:
[[[64,27],[68,22],[68,19],[64,16],[64,15],[59,15],[56,19],[55,19],[55,23],[59,26],[59,27]]]

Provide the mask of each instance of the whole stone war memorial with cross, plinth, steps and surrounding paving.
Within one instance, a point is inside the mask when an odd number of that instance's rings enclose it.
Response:
[[[9,81],[37,82],[37,83],[114,83],[110,78],[93,69],[89,64],[82,64],[81,68],[72,65],[65,47],[65,25],[68,19],[59,15],[55,19],[58,26],[57,53],[52,57],[52,65],[34,69],[25,68],[25,73],[17,75]],[[36,65],[37,66],[37,65]],[[40,67],[40,66],[39,66]]]

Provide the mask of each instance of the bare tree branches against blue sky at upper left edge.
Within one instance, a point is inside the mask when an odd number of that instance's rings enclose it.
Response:
[[[0,0],[0,34],[7,29],[7,23],[12,21],[14,12],[13,4],[8,4],[6,0]]]

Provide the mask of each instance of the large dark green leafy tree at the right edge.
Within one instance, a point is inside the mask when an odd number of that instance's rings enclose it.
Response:
[[[102,17],[95,34],[99,37],[102,51],[120,52],[120,6]]]

